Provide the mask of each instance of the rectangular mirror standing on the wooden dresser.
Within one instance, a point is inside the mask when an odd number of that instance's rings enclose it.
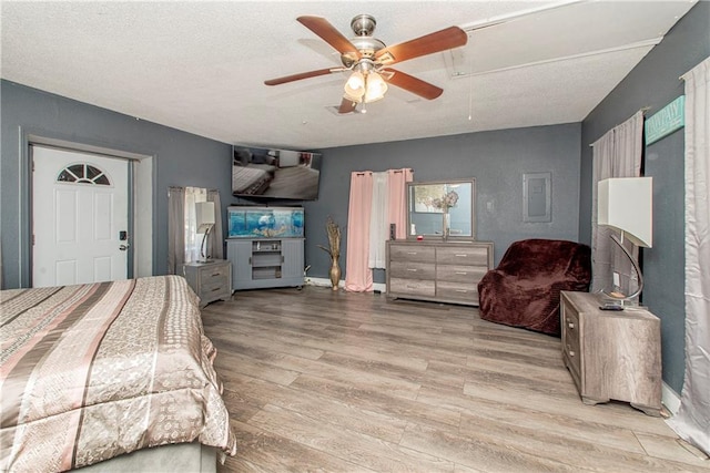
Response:
[[[407,238],[475,239],[476,179],[407,184]]]

